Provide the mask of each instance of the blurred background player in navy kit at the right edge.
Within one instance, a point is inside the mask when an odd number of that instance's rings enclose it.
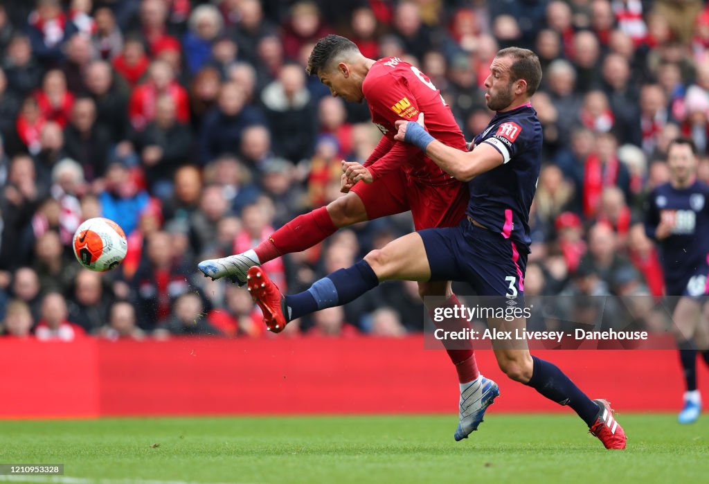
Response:
[[[702,305],[709,291],[709,186],[697,180],[697,152],[689,138],[678,138],[667,150],[670,181],[648,198],[645,232],[661,249],[666,295],[674,305],[672,320],[684,371],[686,392],[681,424],[701,412],[697,390],[697,350],[709,365],[707,322]]]

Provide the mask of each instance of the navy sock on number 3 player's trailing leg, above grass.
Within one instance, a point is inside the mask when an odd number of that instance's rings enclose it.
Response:
[[[556,365],[536,356],[532,356],[532,360],[534,360],[534,369],[527,385],[559,405],[569,405],[579,414],[581,420],[591,427],[596,422],[598,405],[574,385],[574,382]]]

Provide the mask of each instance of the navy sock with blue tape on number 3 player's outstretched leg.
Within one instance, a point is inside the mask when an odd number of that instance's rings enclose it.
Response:
[[[376,286],[379,286],[379,278],[372,266],[367,261],[359,261],[315,281],[307,291],[286,296],[286,318],[291,321],[321,309],[345,305]]]

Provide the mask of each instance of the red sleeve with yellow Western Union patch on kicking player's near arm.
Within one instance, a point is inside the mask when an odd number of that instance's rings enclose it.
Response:
[[[394,123],[400,119],[406,121],[416,120],[420,111],[406,81],[401,78],[381,76],[374,81],[370,81],[367,83],[364,96],[367,98],[369,108],[372,110],[372,121],[377,124],[381,124],[381,121],[386,123],[384,137],[392,143],[389,152],[381,155],[379,159],[367,166],[372,177],[377,179],[398,169],[408,159],[421,156],[421,150],[417,147],[393,140],[393,136],[396,134]],[[381,126],[379,129],[381,129]],[[377,145],[377,148],[379,148],[379,145]],[[374,151],[376,152],[377,150]]]

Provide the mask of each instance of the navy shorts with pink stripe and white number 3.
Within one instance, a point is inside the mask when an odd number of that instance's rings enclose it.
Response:
[[[464,218],[457,227],[420,230],[431,281],[465,281],[477,296],[524,305],[527,248]]]

